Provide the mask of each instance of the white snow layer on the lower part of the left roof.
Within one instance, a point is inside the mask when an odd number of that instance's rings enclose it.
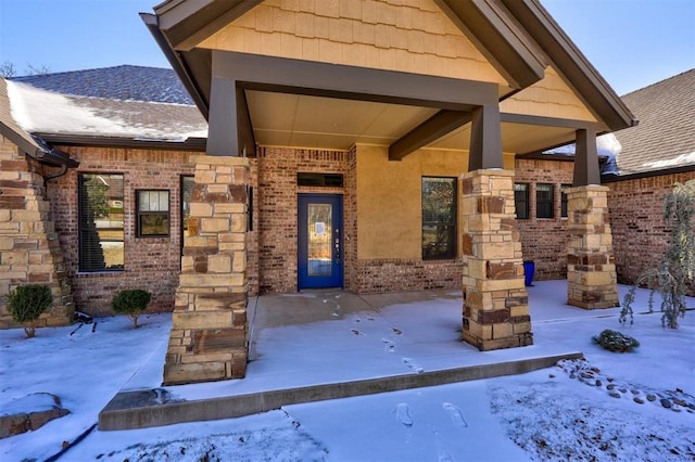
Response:
[[[12,117],[35,133],[185,141],[207,137],[207,123],[188,104],[67,95],[8,81]]]

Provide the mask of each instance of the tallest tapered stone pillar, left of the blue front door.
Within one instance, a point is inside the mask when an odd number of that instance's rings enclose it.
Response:
[[[164,385],[241,378],[249,352],[249,161],[199,156]]]

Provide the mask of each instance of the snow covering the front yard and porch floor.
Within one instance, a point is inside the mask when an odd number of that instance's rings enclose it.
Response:
[[[628,290],[619,288],[621,294]],[[525,350],[580,350],[585,361],[138,431],[92,426],[118,390],[159,386],[170,315],[148,315],[137,330],[129,319],[114,317],[40,329],[31,339],[21,329],[0,331],[0,415],[16,400],[39,393],[59,396],[71,411],[37,431],[0,439],[0,459],[46,460],[70,441],[73,447],[61,461],[692,460],[695,413],[687,406],[695,407],[695,312],[679,319],[680,329],[665,330],[659,312],[644,312],[648,293],[639,291],[634,308],[640,315],[634,325],[622,328],[618,308],[585,311],[565,305],[565,281],[536,282],[528,290],[531,347],[482,354],[452,342],[457,335],[452,326],[460,322],[457,293],[417,303],[396,297],[376,317],[340,312],[339,300],[327,299],[332,320],[260,331],[255,360],[243,381],[166,389],[197,399],[251,386],[350,380],[355,371],[417,373],[417,368],[457,365],[462,355],[484,361]],[[306,296],[288,299],[301,303]],[[695,308],[695,298],[687,306]],[[381,331],[394,325],[400,333]],[[633,336],[641,346],[628,354],[604,350],[591,341],[604,329]],[[413,330],[418,330],[418,342],[408,341]],[[450,354],[452,344],[462,351],[458,357]],[[306,354],[311,348],[314,355]],[[293,365],[281,364],[278,351],[293,358]]]

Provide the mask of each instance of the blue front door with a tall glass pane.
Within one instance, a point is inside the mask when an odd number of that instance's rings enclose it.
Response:
[[[343,196],[299,195],[299,288],[343,286]]]

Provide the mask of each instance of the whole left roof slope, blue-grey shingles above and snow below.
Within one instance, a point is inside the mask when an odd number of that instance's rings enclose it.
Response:
[[[182,142],[207,123],[172,69],[116,66],[8,81],[12,117],[45,137]]]

